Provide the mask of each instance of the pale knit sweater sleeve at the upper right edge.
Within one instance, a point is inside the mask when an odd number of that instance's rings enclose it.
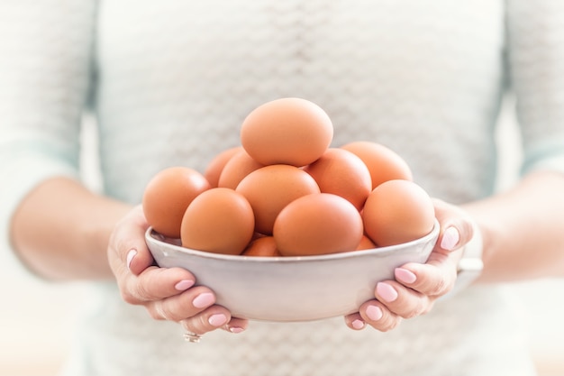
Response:
[[[564,2],[507,2],[508,63],[523,173],[564,172]]]

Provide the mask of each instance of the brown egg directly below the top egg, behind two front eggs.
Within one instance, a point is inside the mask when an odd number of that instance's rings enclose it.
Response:
[[[274,220],[285,206],[298,197],[319,193],[307,172],[287,164],[274,164],[252,171],[237,186],[255,214],[255,231],[272,234]]]

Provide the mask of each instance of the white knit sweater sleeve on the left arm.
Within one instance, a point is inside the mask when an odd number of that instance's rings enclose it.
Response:
[[[78,179],[94,2],[0,4],[0,261],[25,270],[10,244],[14,211],[44,179]]]

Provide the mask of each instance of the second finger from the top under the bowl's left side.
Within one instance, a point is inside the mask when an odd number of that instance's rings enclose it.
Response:
[[[215,303],[215,294],[205,286],[187,289],[182,294],[153,300],[146,304],[150,316],[160,320],[182,321],[196,316]],[[223,323],[225,324],[225,323]]]

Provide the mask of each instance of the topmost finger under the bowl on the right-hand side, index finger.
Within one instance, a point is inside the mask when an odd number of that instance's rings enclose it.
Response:
[[[402,285],[429,297],[440,297],[454,287],[457,263],[462,252],[432,252],[426,263],[410,262],[396,268],[394,276]]]

